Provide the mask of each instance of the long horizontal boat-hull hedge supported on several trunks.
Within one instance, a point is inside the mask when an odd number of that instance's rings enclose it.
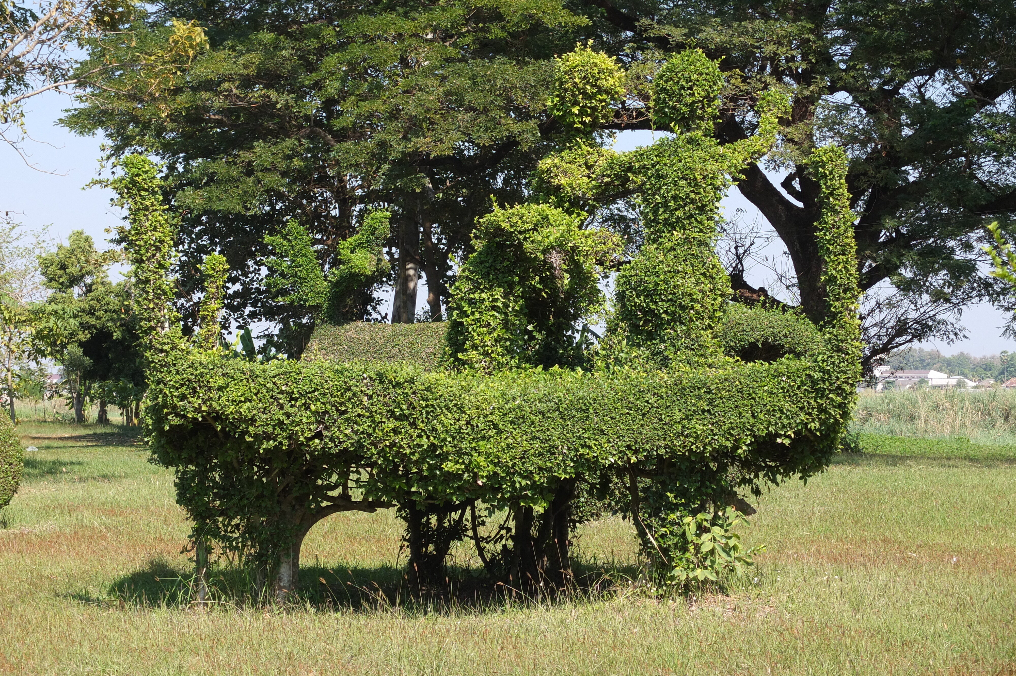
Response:
[[[682,490],[700,495],[717,477],[758,490],[813,475],[849,412],[854,367],[840,353],[708,373],[482,376],[195,351],[161,364],[146,410],[152,450],[205,537],[272,567],[318,520],[360,509],[351,491],[364,509],[545,506],[562,481],[602,471],[680,468]]]

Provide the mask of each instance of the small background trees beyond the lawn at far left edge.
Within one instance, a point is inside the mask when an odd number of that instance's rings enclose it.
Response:
[[[130,277],[113,281],[116,250],[73,230],[65,243],[7,224],[0,256],[0,378],[7,414],[135,424],[145,382]],[[56,373],[55,373],[56,371]],[[56,377],[56,378],[54,378]],[[47,402],[61,400],[58,405]],[[42,409],[42,415],[39,409]]]

